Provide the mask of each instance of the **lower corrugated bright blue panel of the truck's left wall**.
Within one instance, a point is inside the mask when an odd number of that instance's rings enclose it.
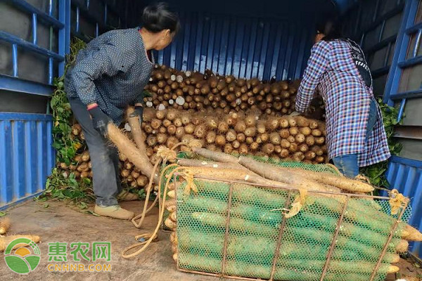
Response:
[[[0,112],[0,208],[44,190],[55,166],[52,119]]]

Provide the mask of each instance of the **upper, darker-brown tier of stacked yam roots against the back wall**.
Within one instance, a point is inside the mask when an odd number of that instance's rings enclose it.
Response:
[[[236,79],[210,70],[205,73],[181,72],[165,65],[155,65],[145,90],[151,96],[144,100],[148,107],[178,110],[231,111],[259,110],[266,115],[289,115],[295,108],[300,81],[260,81],[257,78]],[[310,112],[324,109],[321,99],[312,103]]]

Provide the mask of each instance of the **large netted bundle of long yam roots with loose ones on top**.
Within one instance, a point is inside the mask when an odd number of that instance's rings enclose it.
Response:
[[[298,202],[302,204],[297,214],[286,216],[286,239],[281,242],[274,279],[299,280],[299,270],[303,280],[319,280],[336,224],[347,204],[324,280],[369,280],[396,218],[385,213],[385,208],[381,207],[385,207],[385,202],[380,204],[371,197],[351,197],[346,203],[344,194],[362,195],[373,190],[371,185],[343,176],[289,169],[257,162],[250,157],[234,157],[203,148],[193,148],[193,152],[196,153],[195,159],[179,159],[177,164],[196,175],[198,193],[186,196],[186,182],[182,178],[176,185],[171,183],[168,186],[169,200],[165,202],[165,208],[170,211],[165,226],[173,230],[170,238],[173,259],[179,259],[179,266],[210,273],[220,272],[222,259],[216,257],[220,255],[221,258],[224,244],[222,237],[226,227],[229,190],[229,183],[224,181],[239,181],[244,184],[236,185],[232,195],[236,204],[232,205],[230,211],[227,275],[269,278],[268,266],[260,262],[247,264],[241,260],[244,256],[259,256],[257,260],[260,260],[260,255],[274,255],[275,237],[279,235],[283,214],[279,212],[274,215],[271,210],[285,207],[286,190],[293,188],[307,190],[307,195],[304,202],[300,202],[298,192],[293,193],[297,196],[293,196],[286,206],[294,209]],[[254,183],[286,190],[274,192],[271,189],[253,188]],[[175,186],[178,193],[174,190]],[[179,202],[177,206],[176,200]],[[178,215],[184,215],[177,233],[176,211]],[[198,226],[204,230],[199,231]],[[215,232],[216,228],[221,232]],[[213,235],[215,239],[210,238]],[[407,223],[399,222],[378,268],[379,274],[399,270],[394,263],[399,261],[399,253],[407,251],[409,241],[422,241],[422,234]],[[196,249],[206,250],[203,254],[192,254],[201,253]],[[182,253],[179,254],[179,251]]]

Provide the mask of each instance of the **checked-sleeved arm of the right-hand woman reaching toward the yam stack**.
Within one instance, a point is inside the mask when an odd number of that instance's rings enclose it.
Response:
[[[316,86],[318,86],[322,75],[326,72],[329,63],[331,44],[322,40],[314,44],[311,50],[311,56],[308,60],[305,74],[300,82],[298,95],[296,96],[295,110],[305,112],[312,98]]]

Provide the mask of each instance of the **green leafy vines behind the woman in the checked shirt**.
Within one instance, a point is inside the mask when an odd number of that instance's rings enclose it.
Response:
[[[394,138],[394,127],[401,122],[397,122],[397,117],[399,116],[399,110],[396,107],[392,107],[383,103],[381,98],[378,98],[378,105],[381,107],[381,112],[383,114],[383,123],[385,128],[385,133],[387,134],[388,148],[390,148],[391,155],[399,155],[399,152],[402,150],[402,144],[398,143]],[[387,178],[385,177],[385,172],[388,169],[388,161],[380,162],[373,164],[371,166],[363,167],[360,170],[360,173],[368,177],[373,185],[384,186],[388,188],[390,183],[388,183]]]

